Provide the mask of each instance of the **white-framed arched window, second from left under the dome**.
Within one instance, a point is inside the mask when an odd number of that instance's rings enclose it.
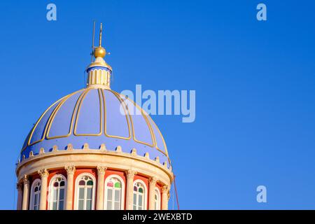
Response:
[[[49,188],[48,209],[63,210],[66,202],[66,178],[61,174],[53,176]]]

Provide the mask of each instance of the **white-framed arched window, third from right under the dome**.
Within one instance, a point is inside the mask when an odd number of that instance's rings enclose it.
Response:
[[[123,179],[118,175],[111,175],[105,181],[104,209],[124,209],[125,185]]]

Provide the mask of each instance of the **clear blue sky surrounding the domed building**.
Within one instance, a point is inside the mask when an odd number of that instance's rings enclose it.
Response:
[[[57,22],[45,18],[51,2]],[[266,22],[255,17],[261,2]],[[314,1],[1,1],[0,8],[0,209],[15,208],[15,162],[31,125],[84,85],[93,19],[104,22],[113,90],[196,90],[195,123],[153,116],[181,209],[315,209]],[[256,202],[259,185],[266,204]]]

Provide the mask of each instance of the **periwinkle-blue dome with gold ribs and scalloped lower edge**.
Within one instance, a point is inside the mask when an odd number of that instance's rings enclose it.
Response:
[[[71,145],[70,145],[71,144]],[[158,160],[169,167],[167,146],[157,125],[137,104],[113,90],[91,85],[57,100],[37,120],[22,146],[21,160],[41,148],[49,152],[106,148]]]

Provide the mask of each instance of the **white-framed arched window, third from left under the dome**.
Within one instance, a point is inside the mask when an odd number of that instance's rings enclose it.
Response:
[[[80,174],[76,179],[76,204],[78,210],[93,210],[95,178],[91,174]]]

